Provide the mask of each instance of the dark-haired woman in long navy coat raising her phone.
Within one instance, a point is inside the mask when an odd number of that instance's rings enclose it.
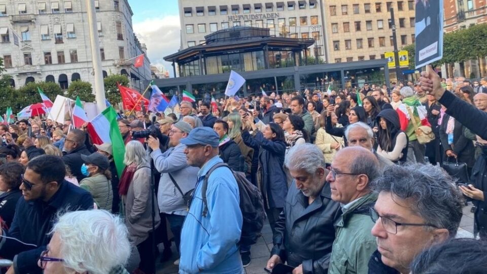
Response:
[[[253,130],[255,136],[252,137],[249,130]],[[288,193],[284,171],[286,154],[284,130],[276,123],[269,123],[264,131],[260,132],[254,124],[254,118],[249,115],[242,120],[242,139],[247,146],[259,149],[257,181],[272,233],[275,234],[275,222],[284,208]]]

